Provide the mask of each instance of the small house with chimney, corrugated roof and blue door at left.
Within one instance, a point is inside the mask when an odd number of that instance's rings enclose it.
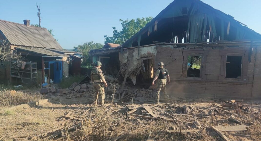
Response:
[[[29,20],[24,24],[0,20],[0,40],[8,40],[14,53],[21,54],[24,68],[1,69],[1,80],[46,84],[58,83],[69,74],[80,74],[81,54],[63,49],[46,28],[34,27]],[[69,71],[69,66],[75,69]],[[46,78],[46,79],[45,79]]]

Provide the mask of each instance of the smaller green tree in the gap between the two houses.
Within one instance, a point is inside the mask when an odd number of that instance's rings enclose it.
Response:
[[[82,61],[82,66],[89,66],[90,65],[90,57],[89,57],[89,52],[91,49],[99,49],[103,47],[103,44],[101,43],[93,43],[93,41],[91,42],[86,42],[82,45],[78,45],[77,46],[81,52],[83,53],[83,61]],[[73,47],[76,48],[76,47]]]

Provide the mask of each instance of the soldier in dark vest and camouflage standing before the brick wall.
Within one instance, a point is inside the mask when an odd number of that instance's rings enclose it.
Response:
[[[159,92],[162,90],[164,94],[164,100],[168,99],[168,94],[166,92],[166,83],[168,78],[168,84],[170,84],[170,78],[169,78],[169,72],[166,68],[163,67],[163,62],[158,63],[158,70],[156,72],[156,76],[152,81],[152,85],[154,85],[154,82],[157,81],[157,102],[159,102]]]

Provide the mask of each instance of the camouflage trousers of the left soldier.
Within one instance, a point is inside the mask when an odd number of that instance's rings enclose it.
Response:
[[[100,98],[101,105],[104,105],[105,92],[101,83],[93,83],[93,96],[94,96],[94,104],[97,105],[98,97]]]

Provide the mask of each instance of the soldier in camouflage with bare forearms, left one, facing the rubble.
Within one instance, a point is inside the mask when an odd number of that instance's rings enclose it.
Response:
[[[107,87],[107,83],[105,81],[104,75],[100,67],[102,63],[99,61],[94,62],[94,68],[91,71],[91,82],[93,83],[94,89],[94,104],[97,105],[98,97],[102,100],[101,105],[104,105],[105,92],[103,88],[103,84]]]

